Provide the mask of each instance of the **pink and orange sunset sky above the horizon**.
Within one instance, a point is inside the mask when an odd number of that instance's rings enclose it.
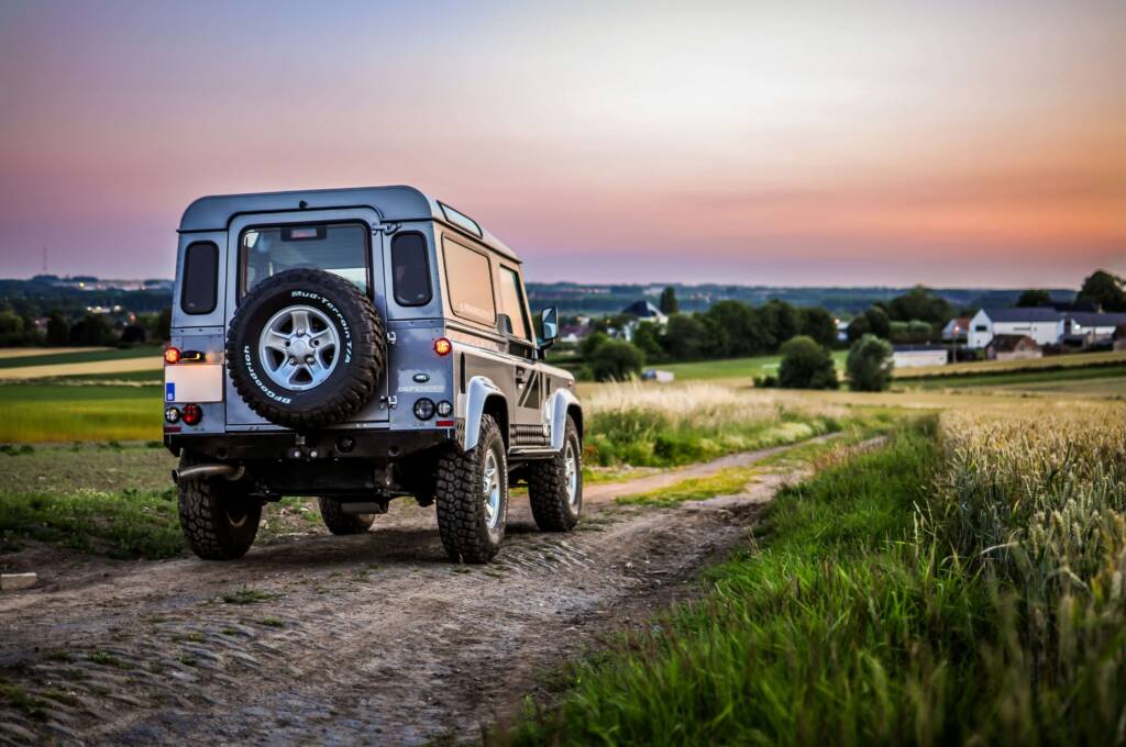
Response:
[[[412,183],[531,280],[1126,273],[1126,2],[0,3],[0,277]]]

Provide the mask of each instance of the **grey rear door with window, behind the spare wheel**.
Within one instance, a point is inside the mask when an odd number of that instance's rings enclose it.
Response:
[[[318,268],[351,280],[387,318],[387,282],[383,267],[385,234],[379,215],[369,208],[301,210],[240,216],[226,236],[226,314],[231,318],[243,296],[271,274],[294,268]],[[387,376],[354,423],[388,421]],[[282,430],[254,413],[225,377],[226,422],[232,430]]]

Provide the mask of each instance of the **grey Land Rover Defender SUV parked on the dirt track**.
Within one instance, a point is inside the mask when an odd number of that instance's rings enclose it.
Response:
[[[193,202],[179,236],[164,444],[196,555],[241,557],[296,495],[334,534],[436,504],[466,562],[497,555],[517,483],[542,530],[574,528],[556,310],[533,320],[520,260],[471,217],[410,187],[235,195]]]

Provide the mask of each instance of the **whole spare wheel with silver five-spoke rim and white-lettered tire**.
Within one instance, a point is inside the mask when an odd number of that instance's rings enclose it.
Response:
[[[297,430],[339,423],[375,393],[387,335],[372,299],[323,270],[286,270],[247,294],[231,320],[226,362],[256,413]]]

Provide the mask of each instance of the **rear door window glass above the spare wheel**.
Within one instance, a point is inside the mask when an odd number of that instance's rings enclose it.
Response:
[[[247,228],[239,240],[242,292],[297,268],[325,270],[367,292],[367,226],[359,223]]]

